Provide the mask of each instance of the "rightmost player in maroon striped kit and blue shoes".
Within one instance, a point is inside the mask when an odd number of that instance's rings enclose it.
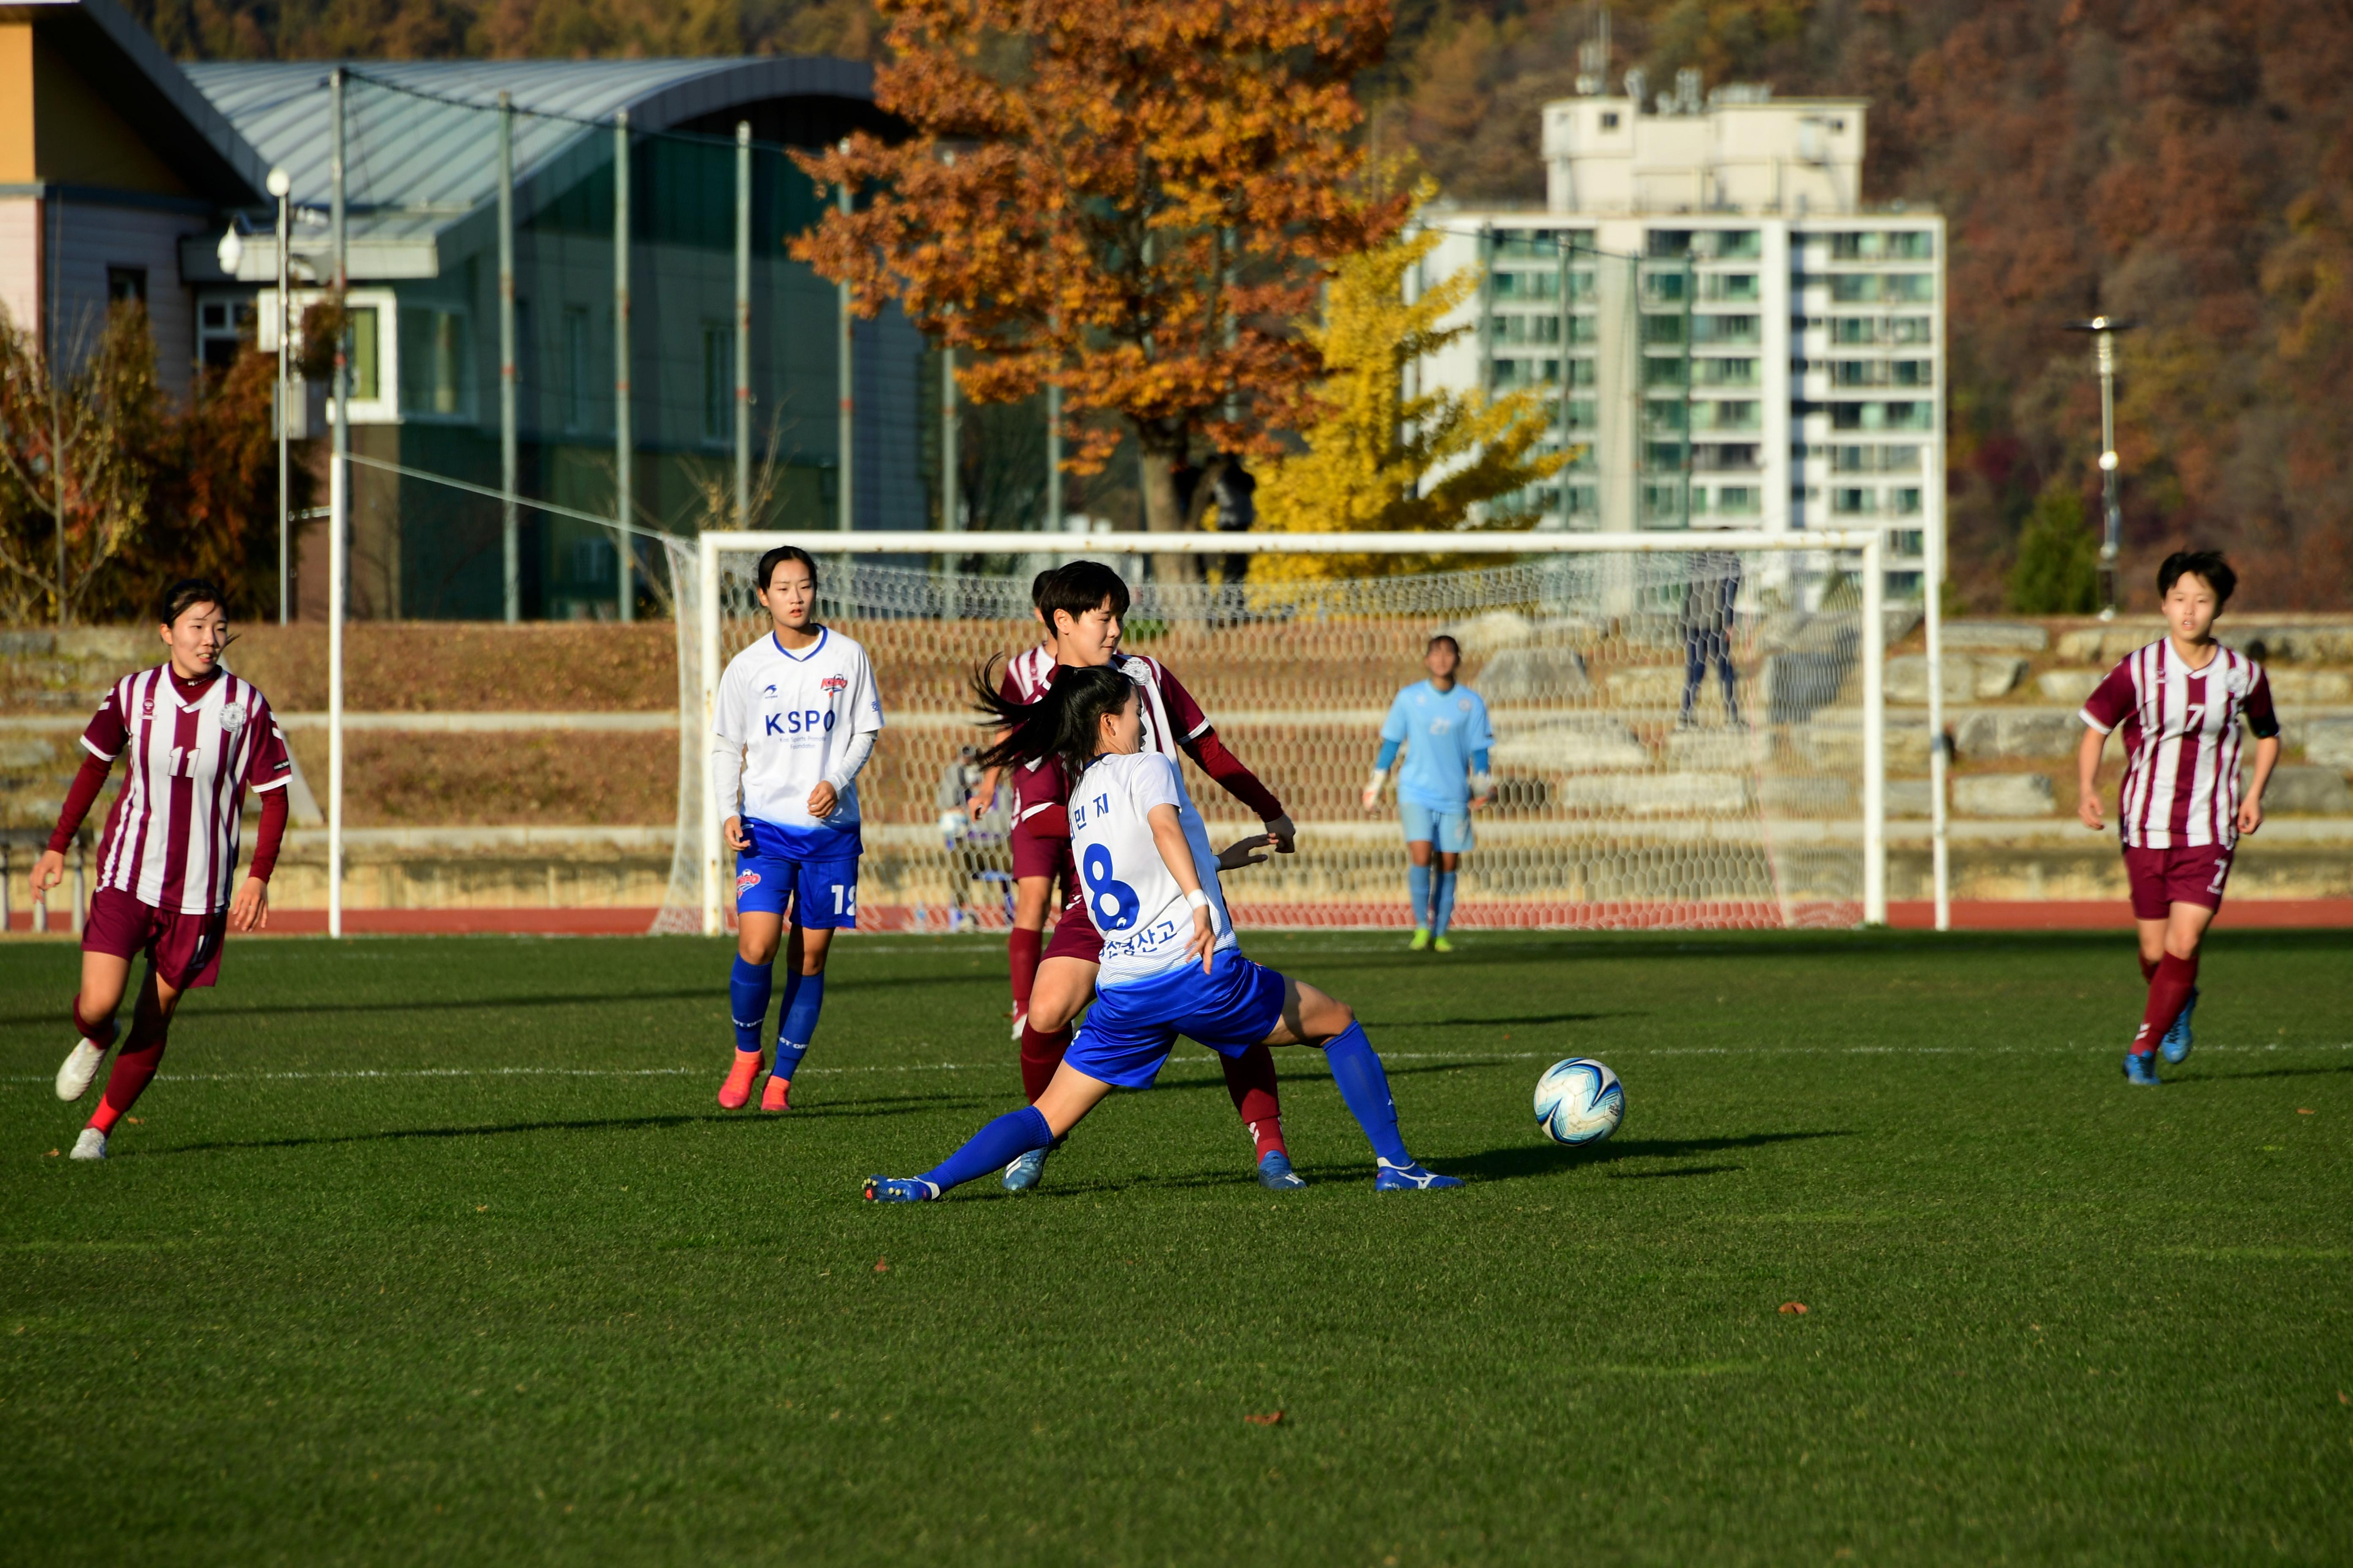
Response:
[[[2082,705],[2075,813],[2085,827],[2106,825],[2099,755],[2108,731],[2125,729],[2115,816],[2148,980],[2141,1030],[2125,1051],[2132,1084],[2158,1081],[2160,1044],[2169,1063],[2191,1053],[2198,947],[2221,907],[2238,835],[2264,825],[2264,785],[2280,762],[2280,719],[2264,665],[2214,642],[2214,616],[2233,588],[2238,574],[2219,552],[2167,555],[2158,569],[2167,635],[2108,670]],[[2245,797],[2238,788],[2240,717],[2254,731],[2254,776]]]

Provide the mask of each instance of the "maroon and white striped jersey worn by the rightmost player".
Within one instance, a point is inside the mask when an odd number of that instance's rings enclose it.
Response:
[[[2115,816],[2132,849],[2228,849],[2238,842],[2238,719],[2259,738],[2280,733],[2264,665],[2214,649],[2202,670],[2172,637],[2127,654],[2082,705],[2099,733],[2125,726],[2125,783]]]

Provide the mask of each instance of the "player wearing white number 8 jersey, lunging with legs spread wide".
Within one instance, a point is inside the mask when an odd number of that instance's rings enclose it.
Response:
[[[1264,860],[1271,835],[1212,853],[1176,762],[1144,745],[1141,710],[1139,686],[1096,665],[1064,670],[1038,703],[1002,715],[1007,733],[988,762],[1056,757],[1073,778],[1071,844],[1104,938],[1094,1009],[1035,1105],[998,1117],[922,1175],[871,1175],[866,1197],[922,1204],[1052,1147],[1113,1088],[1151,1088],[1179,1034],[1219,1056],[1318,1046],[1374,1147],[1374,1187],[1459,1187],[1405,1150],[1381,1058],[1348,1004],[1242,957],[1217,875]]]

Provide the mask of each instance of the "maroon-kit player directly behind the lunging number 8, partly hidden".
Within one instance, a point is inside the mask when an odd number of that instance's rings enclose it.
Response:
[[[1035,701],[1052,682],[1054,668],[1111,665],[1136,682],[1144,703],[1144,745],[1169,757],[1191,757],[1200,771],[1214,778],[1228,795],[1249,806],[1266,823],[1264,844],[1278,853],[1292,853],[1297,832],[1282,802],[1252,776],[1242,762],[1217,738],[1209,717],[1193,701],[1193,693],[1155,658],[1120,654],[1120,618],[1127,614],[1127,583],[1101,562],[1068,562],[1040,574],[1031,588],[1038,618],[1054,632],[1052,665],[1042,665],[1038,649],[1021,656],[1028,661],[1005,675],[995,686],[1000,705]],[[1016,661],[1019,663],[1019,661]],[[981,696],[991,682],[984,679]],[[995,708],[991,708],[995,712]],[[1054,1081],[1064,1051],[1071,1048],[1071,1023],[1094,997],[1094,971],[1104,938],[1082,905],[1078,865],[1071,860],[1071,825],[1066,804],[1068,783],[1056,762],[1026,769],[1019,780],[1016,832],[1040,844],[1061,872],[1064,910],[1054,926],[1054,940],[1038,961],[1026,1018],[1021,1020],[1021,1086],[1031,1100]],[[981,804],[981,802],[976,802]],[[1275,1091],[1275,1060],[1264,1048],[1245,1056],[1221,1056],[1226,1067],[1226,1093],[1233,1098],[1259,1161],[1259,1180],[1278,1192],[1304,1187],[1292,1173],[1289,1150],[1282,1143],[1282,1105]],[[1038,1185],[1045,1168],[1045,1152],[1024,1154],[1007,1173],[1005,1185],[1014,1192]]]

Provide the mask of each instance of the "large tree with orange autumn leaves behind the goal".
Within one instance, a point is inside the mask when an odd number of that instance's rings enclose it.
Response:
[[[1280,449],[1271,433],[1304,418],[1322,369],[1301,324],[1327,263],[1405,219],[1407,193],[1360,181],[1351,92],[1388,42],[1388,2],[878,9],[875,101],[915,134],[798,155],[861,205],[793,254],[861,313],[896,299],[962,350],[976,402],[1059,386],[1073,473],[1101,473],[1132,430],[1146,527],[1188,527],[1174,468]]]

